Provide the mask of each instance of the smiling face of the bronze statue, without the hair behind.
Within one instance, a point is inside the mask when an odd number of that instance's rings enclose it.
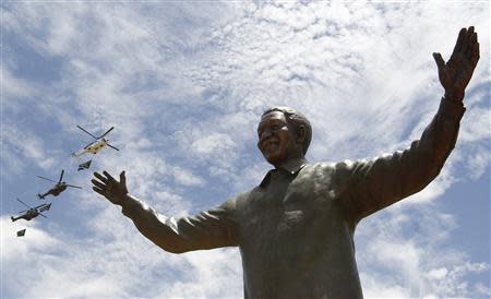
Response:
[[[301,146],[296,143],[294,129],[280,111],[272,111],[263,116],[258,127],[258,136],[259,150],[274,166],[279,166],[301,154]]]

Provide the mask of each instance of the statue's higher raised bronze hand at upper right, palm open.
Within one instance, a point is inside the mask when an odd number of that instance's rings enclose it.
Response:
[[[462,28],[454,52],[445,63],[440,53],[433,53],[439,68],[440,83],[445,88],[445,98],[460,101],[467,84],[479,60],[479,43],[474,26]]]

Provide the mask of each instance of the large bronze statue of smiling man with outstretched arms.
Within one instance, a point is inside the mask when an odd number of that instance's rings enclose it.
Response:
[[[264,112],[258,147],[275,169],[262,182],[194,217],[165,217],[95,172],[94,191],[121,205],[166,251],[239,247],[244,298],[362,298],[354,234],[363,217],[422,190],[452,152],[464,92],[479,60],[474,27],[463,28],[450,60],[433,53],[445,89],[439,111],[410,148],[372,160],[310,164],[309,121],[291,108]]]

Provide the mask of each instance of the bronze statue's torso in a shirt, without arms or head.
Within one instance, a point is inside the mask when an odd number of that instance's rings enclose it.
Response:
[[[237,199],[246,298],[361,298],[355,225],[325,165],[275,170]]]

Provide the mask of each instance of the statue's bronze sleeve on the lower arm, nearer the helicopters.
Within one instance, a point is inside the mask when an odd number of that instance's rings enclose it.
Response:
[[[233,199],[196,216],[181,218],[160,215],[132,195],[122,204],[122,213],[143,236],[172,253],[237,246],[233,211]]]

